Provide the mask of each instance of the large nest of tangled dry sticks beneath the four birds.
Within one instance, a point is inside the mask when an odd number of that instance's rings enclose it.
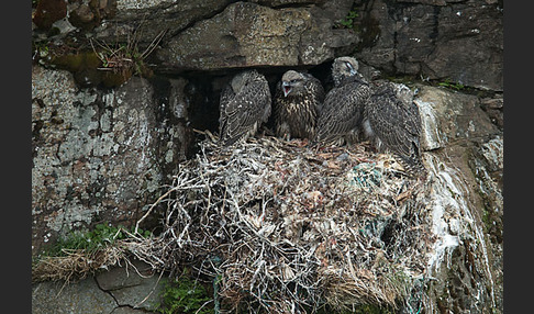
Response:
[[[271,137],[200,148],[154,204],[167,208],[164,232],[120,242],[121,254],[219,278],[229,311],[419,306],[409,302],[432,246],[425,183],[391,155]]]

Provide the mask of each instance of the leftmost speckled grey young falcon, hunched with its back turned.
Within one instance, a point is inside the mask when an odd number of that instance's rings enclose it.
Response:
[[[245,139],[267,122],[271,110],[267,80],[256,70],[237,74],[221,92],[219,135],[224,146]]]

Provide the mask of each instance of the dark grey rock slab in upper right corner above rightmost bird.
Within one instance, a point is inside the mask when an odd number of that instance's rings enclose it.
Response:
[[[502,8],[455,2],[368,2],[359,11],[358,57],[390,74],[502,91]]]

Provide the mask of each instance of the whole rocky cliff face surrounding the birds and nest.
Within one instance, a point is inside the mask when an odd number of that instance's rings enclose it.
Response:
[[[272,88],[309,69],[327,85],[330,61],[351,54],[369,77],[418,82],[436,178],[427,312],[502,311],[502,1],[56,2],[33,12],[33,255],[73,229],[134,224],[194,154],[193,128],[216,130],[236,70]],[[137,57],[149,71],[107,83],[113,68],[96,68],[121,47],[154,48]]]

